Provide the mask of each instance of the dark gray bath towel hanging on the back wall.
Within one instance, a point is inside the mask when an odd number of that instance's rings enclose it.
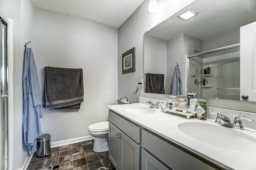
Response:
[[[44,67],[43,108],[79,110],[84,101],[83,70]]]

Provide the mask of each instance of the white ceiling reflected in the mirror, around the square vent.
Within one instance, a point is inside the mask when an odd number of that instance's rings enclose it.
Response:
[[[196,16],[188,20],[176,16],[190,6],[199,12]],[[184,33],[206,40],[256,21],[256,0],[195,0],[182,10],[146,35],[168,41]]]

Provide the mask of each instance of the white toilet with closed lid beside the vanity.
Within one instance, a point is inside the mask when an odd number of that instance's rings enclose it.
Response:
[[[94,152],[108,151],[108,121],[91,124],[88,133],[95,138]]]

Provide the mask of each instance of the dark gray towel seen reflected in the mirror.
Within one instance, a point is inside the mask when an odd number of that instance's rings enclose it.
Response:
[[[147,93],[165,94],[164,91],[164,74],[151,74],[146,76],[146,90]]]

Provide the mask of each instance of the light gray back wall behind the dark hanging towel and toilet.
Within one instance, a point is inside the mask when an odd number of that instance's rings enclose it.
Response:
[[[34,8],[34,57],[44,84],[45,66],[83,68],[84,102],[78,111],[43,110],[43,133],[51,142],[88,136],[88,126],[108,120],[117,99],[117,29]]]

